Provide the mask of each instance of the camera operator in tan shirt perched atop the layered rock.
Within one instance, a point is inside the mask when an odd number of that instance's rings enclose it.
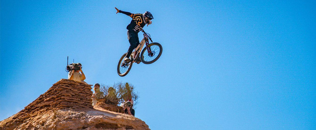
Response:
[[[74,80],[74,81],[79,81],[79,82],[83,82],[83,83],[86,83],[84,80],[86,79],[86,76],[83,74],[83,72],[82,72],[82,65],[80,64],[80,63],[77,63],[78,64],[78,66],[80,67],[80,69],[78,70],[76,70],[76,67],[75,66],[73,66],[72,68],[71,68],[71,71],[69,72],[69,74],[68,74],[68,79],[69,80]],[[79,72],[81,72],[81,74],[79,73]]]

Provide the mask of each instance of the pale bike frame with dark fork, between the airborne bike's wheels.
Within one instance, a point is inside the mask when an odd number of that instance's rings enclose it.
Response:
[[[144,45],[146,45],[146,47],[147,47],[148,54],[151,53],[151,49],[148,48],[148,45],[149,45],[149,40],[151,42],[153,42],[153,41],[151,40],[151,38],[147,35],[147,33],[144,30],[142,30],[142,32],[143,32],[144,38],[142,39],[141,42],[139,42],[138,46],[134,49],[134,51],[131,54],[133,57],[133,62],[136,62],[136,60],[135,60],[136,56],[138,56],[141,53]]]

